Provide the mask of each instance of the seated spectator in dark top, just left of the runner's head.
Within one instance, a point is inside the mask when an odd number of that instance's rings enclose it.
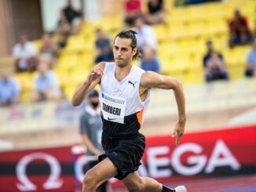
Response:
[[[102,33],[101,29],[96,30],[96,36],[97,36],[97,39],[95,41],[96,58],[94,60],[94,63],[113,60],[114,56],[113,56],[110,39]]]

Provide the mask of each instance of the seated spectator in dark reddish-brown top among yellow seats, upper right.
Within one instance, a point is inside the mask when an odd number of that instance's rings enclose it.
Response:
[[[247,19],[236,9],[234,18],[229,22],[229,46],[245,45],[252,42],[251,31],[247,25]]]

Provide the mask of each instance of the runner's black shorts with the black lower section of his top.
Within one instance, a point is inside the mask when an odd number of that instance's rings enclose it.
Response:
[[[124,124],[102,118],[101,143],[105,154],[99,157],[99,161],[107,157],[112,161],[118,172],[116,179],[124,179],[130,173],[137,171],[141,165],[145,138],[138,132],[141,125],[137,118],[137,113],[126,116]]]

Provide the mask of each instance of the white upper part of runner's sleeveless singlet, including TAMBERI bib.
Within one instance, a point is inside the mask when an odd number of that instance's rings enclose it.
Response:
[[[139,121],[144,121],[150,93],[148,90],[146,100],[142,102],[139,87],[143,73],[140,67],[133,65],[126,78],[119,82],[115,78],[115,63],[105,63],[100,96],[101,112],[105,120],[123,124],[125,116],[140,112]]]

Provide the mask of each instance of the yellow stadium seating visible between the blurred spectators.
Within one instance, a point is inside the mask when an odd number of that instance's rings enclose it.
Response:
[[[232,17],[233,10],[240,7],[253,29],[256,2],[232,0],[187,7],[170,6],[172,2],[174,1],[166,1],[169,22],[153,26],[159,41],[157,54],[163,74],[179,78],[186,84],[202,83],[202,56],[206,51],[205,42],[211,39],[216,49],[225,56],[231,79],[242,78],[245,54],[250,49],[250,45],[229,49],[227,22]],[[68,98],[93,67],[95,29],[101,27],[106,34],[114,38],[122,26],[122,17],[108,16],[94,23],[86,22],[82,25],[79,34],[68,38],[68,44],[60,53],[57,66],[54,68],[60,79],[60,86]],[[38,48],[40,41],[34,43]],[[33,74],[16,75],[22,85],[21,98],[24,102],[29,100],[27,95],[32,89],[33,76]]]

